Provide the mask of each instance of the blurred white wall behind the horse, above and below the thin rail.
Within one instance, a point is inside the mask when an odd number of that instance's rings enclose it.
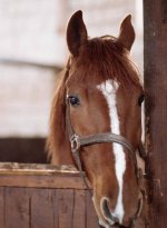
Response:
[[[55,71],[4,65],[13,59],[63,66],[68,57],[66,26],[82,9],[88,33],[118,34],[131,13],[137,31],[132,54],[143,69],[140,0],[0,0],[0,137],[47,136]]]

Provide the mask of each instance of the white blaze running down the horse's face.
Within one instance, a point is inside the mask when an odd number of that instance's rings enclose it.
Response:
[[[107,100],[107,105],[109,108],[111,132],[120,135],[119,118],[118,118],[117,106],[116,106],[116,92],[118,89],[118,83],[116,81],[107,80],[106,82],[99,85],[97,88],[101,91],[101,93]],[[112,216],[117,217],[119,219],[119,222],[121,224],[125,215],[124,205],[122,205],[122,178],[124,178],[124,172],[126,170],[126,159],[125,159],[125,152],[122,150],[121,145],[112,143],[112,147],[114,147],[112,150],[115,156],[116,177],[119,186],[117,205]]]

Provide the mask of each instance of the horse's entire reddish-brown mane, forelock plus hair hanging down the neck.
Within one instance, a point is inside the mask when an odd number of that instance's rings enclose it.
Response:
[[[128,51],[116,38],[110,36],[89,39],[81,47],[79,57],[73,58],[71,62],[71,66],[68,63],[59,77],[50,115],[50,132],[47,147],[52,162],[58,165],[72,163],[72,158],[69,158],[70,147],[66,132],[65,96],[66,81],[69,80],[69,68],[72,72],[79,71],[79,81],[86,85],[90,85],[90,82],[94,85],[95,81],[101,80],[101,78],[102,81],[111,79],[121,83],[127,92],[130,92],[131,83],[140,83],[139,73],[129,59]],[[71,82],[73,80],[76,78],[72,77]],[[66,152],[66,156],[63,152]]]

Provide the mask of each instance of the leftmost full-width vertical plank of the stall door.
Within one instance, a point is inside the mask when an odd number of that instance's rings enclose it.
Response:
[[[6,188],[6,228],[29,228],[29,192],[24,188]]]

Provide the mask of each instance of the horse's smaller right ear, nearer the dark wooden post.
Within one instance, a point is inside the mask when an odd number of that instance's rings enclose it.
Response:
[[[126,49],[130,51],[135,40],[135,30],[131,24],[131,16],[127,16],[120,24],[120,32],[118,40]]]

